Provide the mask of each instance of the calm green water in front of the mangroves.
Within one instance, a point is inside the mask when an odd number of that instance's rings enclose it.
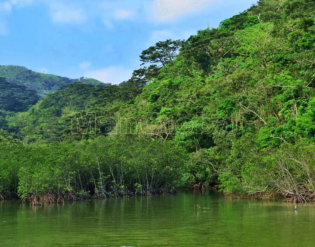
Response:
[[[197,210],[194,205],[213,208]],[[315,205],[225,199],[220,193],[30,207],[0,203],[1,246],[315,246]]]

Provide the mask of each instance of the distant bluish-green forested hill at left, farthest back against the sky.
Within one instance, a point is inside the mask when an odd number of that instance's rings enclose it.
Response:
[[[38,73],[17,65],[0,65],[0,77],[6,78],[9,82],[17,85],[24,85],[35,90],[39,96],[43,97],[48,93],[53,93],[62,85],[76,81],[91,85],[102,85],[101,81],[88,78],[69,79],[67,77],[55,76],[52,74]]]

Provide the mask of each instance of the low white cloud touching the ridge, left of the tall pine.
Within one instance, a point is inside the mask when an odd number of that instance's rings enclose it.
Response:
[[[110,66],[100,70],[87,71],[84,76],[104,83],[119,84],[130,79],[133,70],[119,66]]]

